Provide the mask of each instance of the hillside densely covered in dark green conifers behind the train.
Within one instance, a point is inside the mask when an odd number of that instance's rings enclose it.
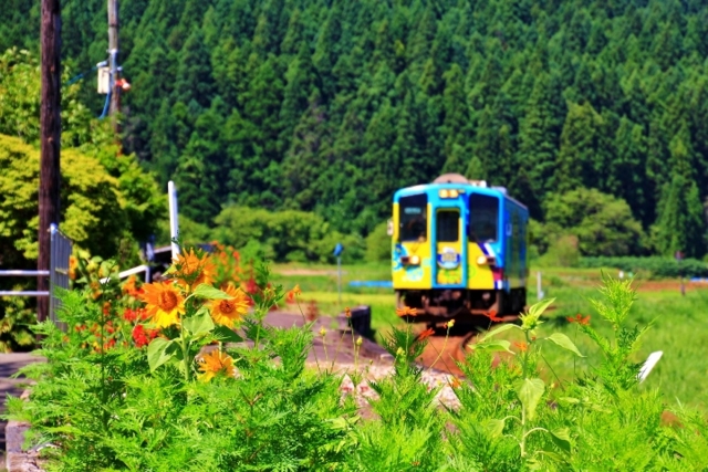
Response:
[[[0,50],[37,51],[39,2],[9,2]],[[104,60],[105,1],[63,17],[67,66]],[[706,252],[705,2],[122,0],[121,22],[124,148],[197,222],[298,209],[366,234],[454,171],[542,222],[596,189],[636,220],[621,252]],[[81,97],[100,113],[93,77]]]

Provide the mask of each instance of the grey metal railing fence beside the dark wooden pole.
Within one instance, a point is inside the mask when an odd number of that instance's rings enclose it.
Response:
[[[49,276],[49,292],[45,291],[0,291],[0,296],[49,296],[49,316],[56,323],[56,311],[60,300],[56,296],[56,287],[69,289],[69,258],[72,250],[72,241],[62,233],[56,224],[50,227],[50,268],[49,271],[0,271],[0,276]]]

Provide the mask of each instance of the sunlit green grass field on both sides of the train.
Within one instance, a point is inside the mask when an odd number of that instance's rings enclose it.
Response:
[[[535,276],[535,270],[531,271]],[[615,273],[612,271],[611,273]],[[357,289],[348,286],[351,281],[388,280],[389,270],[386,264],[348,265],[342,269],[342,303],[339,303],[336,266],[331,265],[277,265],[273,268],[274,282],[285,290],[295,284],[302,289],[301,301],[308,304],[316,301],[321,314],[333,315],[345,306],[371,305],[372,327],[377,336],[389,329],[392,324],[399,324],[394,311],[394,295],[388,289]],[[586,358],[573,359],[564,352],[549,345],[543,353],[549,366],[543,366],[543,375],[549,379],[558,375],[561,379],[573,375],[591,373],[598,358],[598,352],[590,339],[576,334],[575,325],[569,324],[566,316],[577,313],[591,315],[592,325],[598,329],[607,329],[604,322],[596,316],[587,298],[596,297],[601,273],[590,269],[543,269],[543,290],[546,297],[555,297],[554,308],[546,312],[545,329],[549,334],[559,331],[576,344]],[[680,401],[708,409],[708,290],[689,290],[681,296],[677,286],[665,283],[652,283],[637,280],[639,289],[637,301],[628,318],[631,325],[644,326],[653,323],[645,335],[639,356],[645,359],[649,353],[663,350],[664,356],[658,366],[644,384],[644,388],[658,388],[669,405]],[[691,290],[693,289],[693,290]],[[535,279],[529,286],[529,302],[537,300]],[[509,332],[508,332],[509,333]]]

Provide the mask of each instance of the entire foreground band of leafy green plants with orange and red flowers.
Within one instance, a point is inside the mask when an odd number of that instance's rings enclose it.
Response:
[[[543,350],[583,354],[568,336],[543,329],[553,301],[542,301],[519,325],[494,327],[471,345],[459,363],[466,378],[449,380],[457,410],[435,405],[441,387],[424,385],[416,365],[433,329],[393,328],[384,345],[394,373],[369,382],[378,398],[368,400],[374,418],[362,420],[340,392],[343,374],[305,367],[312,324],[263,323],[282,297],[263,283],[267,269],[250,296],[210,285],[212,271],[209,258],[184,252],[171,280],[142,287],[113,281],[98,296],[69,292],[61,311],[67,331],[38,326],[48,363],[22,370],[35,385],[28,401],[10,398],[8,407],[11,418],[31,422],[30,443],[55,445],[42,450],[52,470],[708,466],[705,418],[677,411],[686,427],[663,426],[659,394],[638,388],[635,356],[647,327],[626,326],[636,297],[631,281],[605,277],[592,301],[611,337],[590,316],[569,318],[595,342],[598,366],[575,379],[545,378]],[[146,306],[134,305],[137,298]],[[454,323],[446,324],[448,335]],[[348,374],[355,385],[362,380],[357,370]]]

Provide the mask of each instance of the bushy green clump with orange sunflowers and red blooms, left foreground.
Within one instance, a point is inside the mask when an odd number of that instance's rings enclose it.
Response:
[[[312,331],[264,326],[281,290],[221,292],[211,270],[187,252],[175,283],[129,289],[148,301],[138,315],[112,281],[97,296],[63,295],[65,333],[39,325],[48,363],[24,369],[38,384],[10,410],[32,422],[31,441],[60,447],[48,451],[52,469],[336,469],[353,403],[341,401],[340,377],[304,368]],[[253,347],[222,347],[243,340],[231,326]]]

